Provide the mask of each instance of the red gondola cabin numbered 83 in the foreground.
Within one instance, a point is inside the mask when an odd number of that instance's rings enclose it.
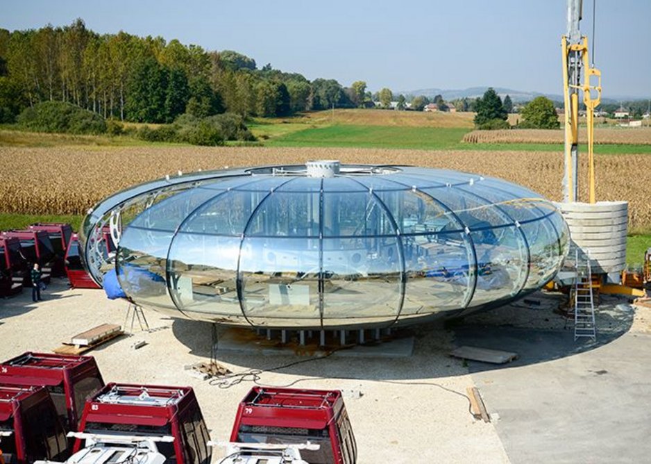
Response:
[[[74,456],[81,455],[89,442],[102,449],[118,445],[124,449],[125,441],[148,440],[144,452],[162,454],[165,462],[208,464],[212,457],[208,429],[190,387],[108,383],[87,401],[79,429]],[[85,462],[82,459],[75,462]]]

